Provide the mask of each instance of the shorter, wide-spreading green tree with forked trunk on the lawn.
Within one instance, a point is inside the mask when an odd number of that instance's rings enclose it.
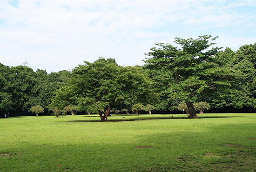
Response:
[[[81,110],[97,111],[101,121],[107,121],[111,108],[122,109],[153,100],[151,82],[142,68],[123,67],[114,59],[100,58],[74,68],[71,79],[57,92],[52,105],[77,103]]]

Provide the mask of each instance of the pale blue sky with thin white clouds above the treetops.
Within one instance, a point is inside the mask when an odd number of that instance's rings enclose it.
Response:
[[[0,63],[47,73],[115,58],[143,65],[155,43],[218,36],[256,43],[256,0],[0,0]]]

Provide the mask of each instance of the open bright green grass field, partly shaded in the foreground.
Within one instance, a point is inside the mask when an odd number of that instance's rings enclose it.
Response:
[[[0,171],[256,171],[256,114],[169,116],[0,119]]]

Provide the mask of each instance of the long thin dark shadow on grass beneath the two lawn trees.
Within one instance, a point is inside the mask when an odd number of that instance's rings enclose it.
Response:
[[[113,117],[113,116],[112,116]],[[214,116],[214,117],[199,117],[199,119],[210,119],[210,118],[234,118],[237,116]],[[124,121],[141,121],[141,120],[155,120],[155,119],[169,119],[169,120],[175,120],[175,119],[189,119],[187,117],[149,117],[149,118],[133,118],[133,119],[108,119],[108,122],[124,122]],[[191,120],[191,119],[189,119]],[[196,120],[196,119],[195,119]],[[73,120],[73,121],[65,121],[65,122],[101,122],[100,119],[94,119],[94,120]]]

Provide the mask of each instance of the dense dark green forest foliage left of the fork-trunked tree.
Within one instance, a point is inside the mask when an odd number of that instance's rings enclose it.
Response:
[[[34,72],[27,66],[0,63],[0,116],[27,114],[36,105],[47,113],[56,90],[66,84],[69,75],[68,71],[47,74],[45,70]]]

